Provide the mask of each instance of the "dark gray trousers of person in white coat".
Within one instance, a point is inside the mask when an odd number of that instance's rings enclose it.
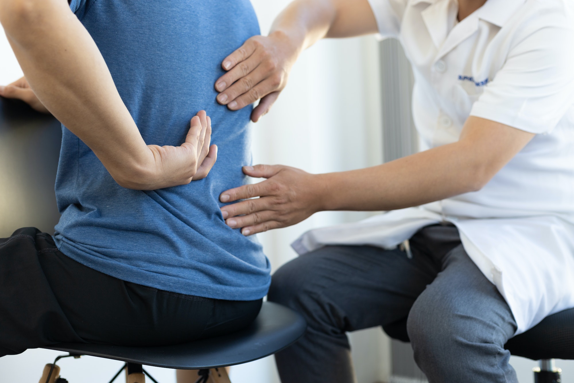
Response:
[[[286,263],[268,299],[300,312],[306,334],[276,355],[283,383],[354,381],[346,331],[405,326],[430,383],[517,383],[504,348],[516,323],[453,226],[422,228],[399,250],[328,246]]]

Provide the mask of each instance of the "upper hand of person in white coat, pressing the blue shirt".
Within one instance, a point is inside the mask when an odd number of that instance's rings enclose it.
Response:
[[[217,101],[239,110],[261,99],[251,112],[251,120],[257,122],[285,88],[298,54],[299,49],[283,32],[251,37],[223,59],[227,73],[215,82]]]

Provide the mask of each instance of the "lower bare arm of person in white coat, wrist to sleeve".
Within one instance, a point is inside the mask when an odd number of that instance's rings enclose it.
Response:
[[[361,170],[319,175],[325,210],[394,210],[478,191],[534,135],[469,117],[460,140]],[[340,185],[333,189],[335,185]]]

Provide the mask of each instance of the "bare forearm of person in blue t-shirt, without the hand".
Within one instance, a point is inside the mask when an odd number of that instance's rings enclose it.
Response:
[[[123,104],[98,47],[65,0],[0,0],[0,21],[42,104],[114,178],[145,177],[153,153]]]

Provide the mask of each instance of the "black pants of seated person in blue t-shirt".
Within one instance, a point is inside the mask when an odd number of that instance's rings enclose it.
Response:
[[[73,261],[35,228],[0,239],[0,357],[59,342],[159,346],[224,335],[249,325],[261,302],[125,282]]]

